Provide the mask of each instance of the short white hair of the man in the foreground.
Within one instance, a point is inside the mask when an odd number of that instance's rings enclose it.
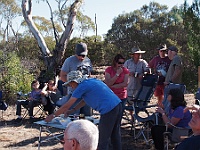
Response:
[[[99,140],[99,130],[88,120],[75,120],[68,124],[65,134],[69,139],[76,139],[81,150],[96,150]]]

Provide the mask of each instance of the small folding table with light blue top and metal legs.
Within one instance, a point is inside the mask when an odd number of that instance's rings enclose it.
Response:
[[[38,150],[40,150],[40,144],[42,142],[45,142],[45,141],[48,141],[48,140],[51,140],[51,139],[57,139],[57,140],[60,141],[60,137],[64,135],[64,130],[65,130],[67,124],[69,122],[71,122],[71,119],[77,120],[77,118],[56,117],[51,122],[46,122],[44,120],[34,122],[35,124],[40,125],[40,134],[39,134],[39,139],[38,139]],[[95,125],[99,124],[99,119],[96,119],[92,116],[86,116],[85,119],[93,122]],[[60,133],[52,133],[51,130],[50,130],[51,128],[60,129],[61,131],[60,131]],[[42,131],[49,133],[48,137],[46,137],[43,140],[41,139]]]

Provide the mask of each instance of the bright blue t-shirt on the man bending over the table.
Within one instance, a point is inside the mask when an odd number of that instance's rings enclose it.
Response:
[[[85,103],[100,114],[105,114],[115,108],[121,100],[101,80],[89,78],[76,87],[72,97],[83,98]]]

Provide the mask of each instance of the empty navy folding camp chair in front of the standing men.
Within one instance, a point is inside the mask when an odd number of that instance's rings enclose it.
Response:
[[[141,135],[143,136],[145,142],[148,144],[148,137],[145,135],[145,131],[149,132],[149,126],[154,124],[155,122],[155,114],[150,114],[148,112],[148,108],[155,107],[156,105],[148,105],[150,102],[151,97],[155,91],[155,87],[158,81],[158,76],[154,74],[146,74],[144,75],[141,88],[137,94],[137,96],[132,99],[132,111],[134,122],[133,129],[134,129],[134,138],[137,140]],[[125,110],[130,110],[130,107],[125,107]],[[141,117],[141,113],[143,113]],[[139,127],[139,132],[135,135],[135,129]],[[149,131],[148,131],[149,130]]]

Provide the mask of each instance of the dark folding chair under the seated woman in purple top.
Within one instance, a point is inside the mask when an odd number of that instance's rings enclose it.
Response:
[[[173,144],[174,147],[176,147],[176,145],[178,145],[182,140],[192,135],[192,130],[190,127],[188,128],[176,127],[171,123],[167,123],[165,126],[166,126],[166,131],[163,133],[165,139],[164,140],[165,150],[169,149],[169,144]],[[169,126],[171,126],[172,128],[171,129],[172,132],[168,131]]]

